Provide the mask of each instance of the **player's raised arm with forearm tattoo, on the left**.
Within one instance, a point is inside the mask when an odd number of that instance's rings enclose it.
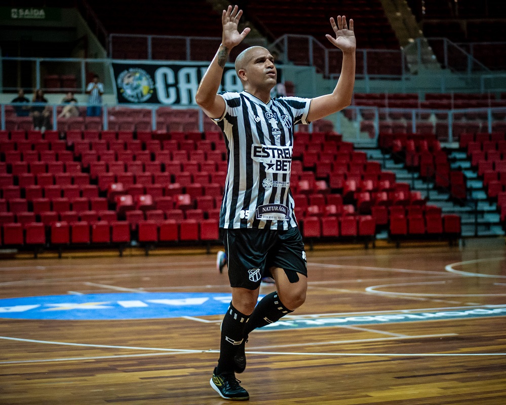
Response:
[[[225,111],[225,100],[216,93],[220,87],[223,68],[225,67],[228,55],[232,48],[239,45],[250,32],[250,28],[245,28],[241,33],[237,30],[237,25],[242,14],[243,11],[238,11],[237,6],[233,9],[232,6],[228,6],[227,10],[223,10],[221,16],[221,23],[223,24],[221,45],[207,68],[195,96],[197,104],[211,118],[219,118]]]

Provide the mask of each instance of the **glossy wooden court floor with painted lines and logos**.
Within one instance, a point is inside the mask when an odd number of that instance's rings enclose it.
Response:
[[[250,335],[249,403],[506,403],[504,253],[308,251],[306,303]],[[213,254],[0,261],[0,404],[230,403],[209,385],[222,315],[199,312],[225,305],[225,273]],[[155,307],[186,315],[133,319]]]

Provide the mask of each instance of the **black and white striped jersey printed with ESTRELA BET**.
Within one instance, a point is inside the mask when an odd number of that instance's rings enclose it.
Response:
[[[293,129],[307,124],[311,100],[223,92],[217,119],[228,152],[220,228],[287,230],[297,226],[290,192]]]

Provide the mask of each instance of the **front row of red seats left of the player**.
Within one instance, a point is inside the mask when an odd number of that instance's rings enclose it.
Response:
[[[46,238],[43,223],[9,223],[2,226],[3,246],[41,247],[84,244],[128,244],[131,242],[131,228],[127,221],[77,221],[53,222],[50,236]],[[185,219],[181,223],[166,220],[160,224],[143,221],[138,224],[138,242],[217,241],[218,221],[204,219],[197,222]]]

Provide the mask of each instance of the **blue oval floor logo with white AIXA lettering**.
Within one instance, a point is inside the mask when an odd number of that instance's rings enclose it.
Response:
[[[232,296],[207,292],[145,292],[41,296],[0,300],[0,318],[106,320],[224,314]]]

